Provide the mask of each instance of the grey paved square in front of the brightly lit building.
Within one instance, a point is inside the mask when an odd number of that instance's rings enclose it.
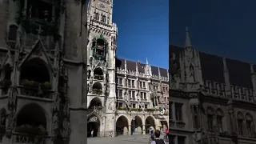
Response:
[[[162,136],[163,137],[163,136]],[[88,138],[87,144],[114,143],[114,144],[149,144],[150,135],[118,136],[114,138]],[[166,144],[169,142],[166,142]]]

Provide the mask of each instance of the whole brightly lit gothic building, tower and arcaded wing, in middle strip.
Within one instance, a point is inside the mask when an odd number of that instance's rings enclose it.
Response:
[[[168,128],[168,70],[148,62],[116,58],[118,28],[113,3],[94,0],[88,6],[88,134],[108,137],[142,134],[150,127]]]

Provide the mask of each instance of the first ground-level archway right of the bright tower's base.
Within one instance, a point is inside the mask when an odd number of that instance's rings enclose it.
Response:
[[[127,135],[128,130],[128,119],[125,116],[120,116],[116,122],[117,135]]]

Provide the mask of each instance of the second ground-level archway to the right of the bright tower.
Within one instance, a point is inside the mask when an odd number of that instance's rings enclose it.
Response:
[[[136,115],[131,123],[131,132],[132,134],[142,134],[142,118]]]

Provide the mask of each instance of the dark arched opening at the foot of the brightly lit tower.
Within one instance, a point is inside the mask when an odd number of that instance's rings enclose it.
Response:
[[[93,137],[99,137],[100,136],[100,119],[95,115],[92,114],[87,121],[87,137],[91,137],[91,133],[93,130]]]

